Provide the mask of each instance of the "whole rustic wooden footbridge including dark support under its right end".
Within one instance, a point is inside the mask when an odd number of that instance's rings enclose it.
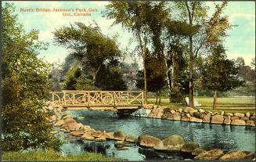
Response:
[[[68,91],[50,92],[52,106],[67,110],[114,110],[118,116],[127,116],[144,105],[140,91]]]

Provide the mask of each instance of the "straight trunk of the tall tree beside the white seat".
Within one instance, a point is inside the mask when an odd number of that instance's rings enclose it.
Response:
[[[193,40],[189,36],[189,107],[194,108],[193,94]]]

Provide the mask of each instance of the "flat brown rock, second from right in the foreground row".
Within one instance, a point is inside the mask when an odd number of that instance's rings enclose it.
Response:
[[[217,160],[223,155],[222,149],[211,149],[210,151],[204,151],[195,157],[195,159],[199,160]]]

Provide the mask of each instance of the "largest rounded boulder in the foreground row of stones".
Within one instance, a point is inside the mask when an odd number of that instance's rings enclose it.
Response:
[[[181,135],[171,135],[167,139],[164,139],[153,146],[153,149],[157,150],[180,150],[185,144],[185,141]]]

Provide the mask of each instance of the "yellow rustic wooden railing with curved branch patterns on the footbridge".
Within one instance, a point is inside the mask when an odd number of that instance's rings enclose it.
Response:
[[[56,106],[143,106],[140,91],[67,91],[50,92]]]

